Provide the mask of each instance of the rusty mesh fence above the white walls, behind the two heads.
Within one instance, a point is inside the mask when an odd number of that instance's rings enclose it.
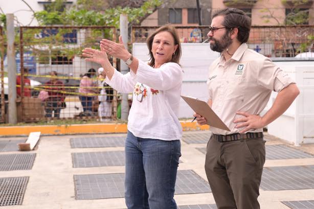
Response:
[[[132,27],[132,42],[145,42],[159,27]],[[207,42],[208,26],[176,27],[181,42]],[[314,51],[314,26],[253,26],[248,41],[250,49],[266,57],[295,57]],[[314,56],[313,56],[314,57]]]

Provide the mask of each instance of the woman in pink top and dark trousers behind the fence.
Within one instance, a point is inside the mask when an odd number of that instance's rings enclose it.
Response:
[[[92,106],[94,100],[94,94],[98,94],[97,84],[93,81],[93,77],[95,77],[96,71],[94,68],[88,69],[88,73],[86,73],[81,81],[80,81],[80,89],[79,92],[82,94],[80,96],[80,101],[82,103],[83,111],[88,111],[90,114],[92,113]]]

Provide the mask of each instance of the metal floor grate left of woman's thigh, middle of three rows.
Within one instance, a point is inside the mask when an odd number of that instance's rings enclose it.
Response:
[[[124,151],[72,153],[73,168],[124,166]]]

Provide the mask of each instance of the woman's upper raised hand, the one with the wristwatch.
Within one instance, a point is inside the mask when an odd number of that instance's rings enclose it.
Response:
[[[131,57],[131,54],[124,48],[122,36],[119,36],[119,43],[102,39],[102,41],[100,41],[100,48],[107,54],[122,59],[123,61]]]

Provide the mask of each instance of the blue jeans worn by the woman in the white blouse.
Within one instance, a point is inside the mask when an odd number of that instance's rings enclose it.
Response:
[[[128,209],[176,209],[173,199],[181,142],[140,138],[125,142],[125,203]]]

